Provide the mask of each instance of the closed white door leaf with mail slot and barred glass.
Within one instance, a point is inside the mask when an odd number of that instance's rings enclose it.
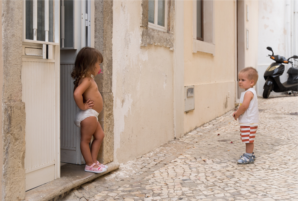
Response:
[[[59,1],[24,1],[26,191],[60,177]]]

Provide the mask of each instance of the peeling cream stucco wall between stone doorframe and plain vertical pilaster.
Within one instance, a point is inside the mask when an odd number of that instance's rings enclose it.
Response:
[[[174,138],[173,51],[141,47],[142,1],[114,1],[114,161],[125,162]]]

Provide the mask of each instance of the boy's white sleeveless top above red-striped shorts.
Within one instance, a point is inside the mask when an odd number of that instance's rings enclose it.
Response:
[[[259,109],[258,109],[258,99],[257,93],[254,88],[249,88],[241,93],[239,107],[243,103],[244,94],[251,91],[254,94],[254,98],[249,103],[247,110],[241,114],[238,118],[240,126],[257,126],[259,125]]]

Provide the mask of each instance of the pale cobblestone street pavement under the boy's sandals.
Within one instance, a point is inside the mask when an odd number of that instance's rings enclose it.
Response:
[[[58,200],[298,200],[298,98],[258,102],[254,164],[237,164],[245,145],[231,110]]]

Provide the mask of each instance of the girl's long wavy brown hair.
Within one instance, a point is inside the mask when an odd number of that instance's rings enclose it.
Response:
[[[75,59],[75,66],[72,69],[72,79],[74,84],[77,85],[79,80],[84,77],[91,77],[95,71],[95,64],[103,62],[103,55],[99,50],[90,47],[82,48]]]

